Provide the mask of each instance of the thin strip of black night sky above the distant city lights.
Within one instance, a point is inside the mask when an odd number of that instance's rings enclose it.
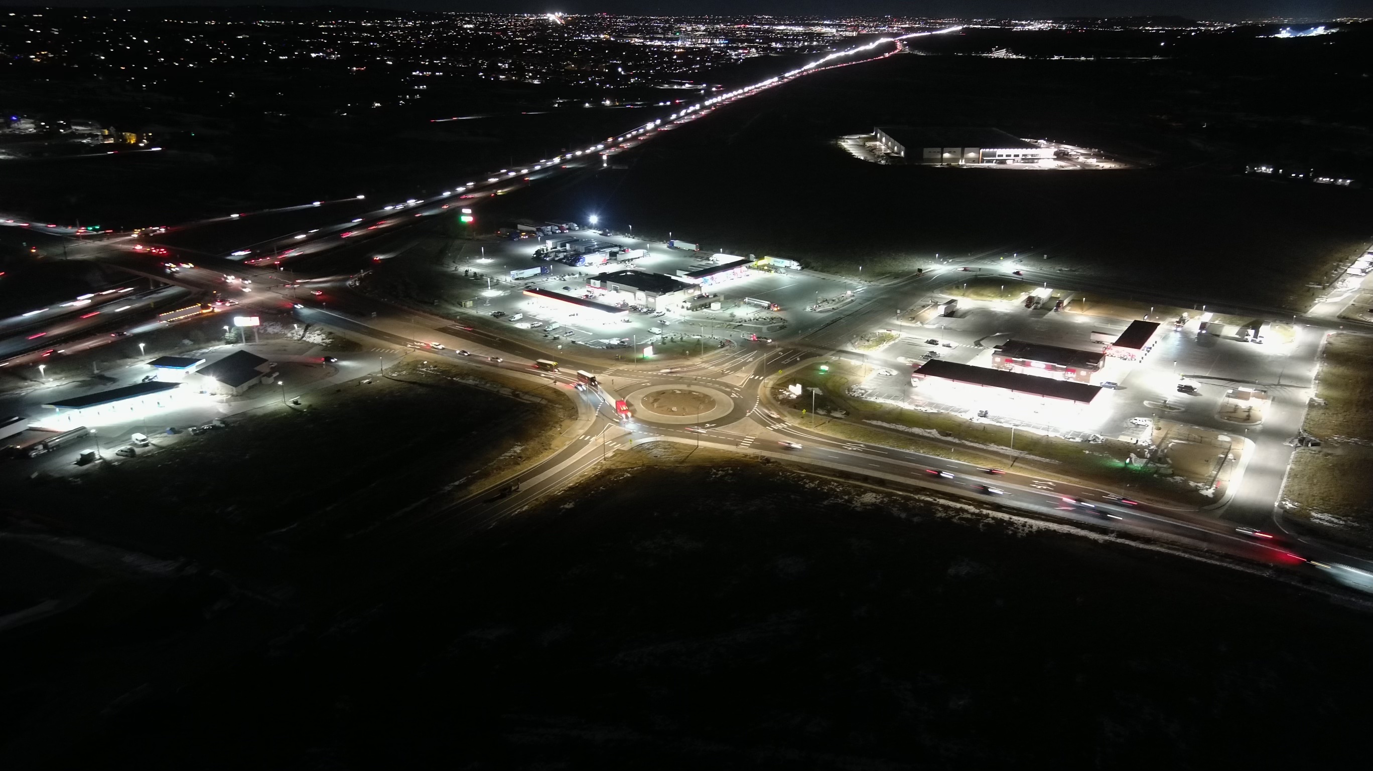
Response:
[[[224,0],[34,0],[5,5],[130,7],[130,5],[321,5],[317,1],[233,3]],[[1373,0],[376,0],[332,3],[375,8],[489,12],[612,12],[612,14],[800,14],[910,15],[961,18],[1048,18],[1181,15],[1193,19],[1373,16]]]

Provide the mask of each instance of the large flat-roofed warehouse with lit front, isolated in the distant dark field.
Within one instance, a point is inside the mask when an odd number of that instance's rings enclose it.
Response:
[[[872,133],[887,152],[905,158],[906,163],[990,166],[1053,159],[1053,147],[1016,139],[1001,129],[877,126]]]

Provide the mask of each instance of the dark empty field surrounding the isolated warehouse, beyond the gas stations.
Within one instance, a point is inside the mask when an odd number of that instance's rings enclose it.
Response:
[[[1138,291],[1304,310],[1319,294],[1306,284],[1373,239],[1369,192],[1240,171],[1267,156],[1265,143],[1281,133],[1274,125],[1346,144],[1348,132],[1339,117],[1313,126],[1274,112],[1267,85],[1249,75],[1197,67],[894,56],[722,107],[616,156],[626,169],[535,185],[496,210],[578,220],[595,211],[611,228],[670,230],[703,248],[851,274],[862,265],[864,276],[912,270],[936,252],[1035,250],[1038,266]],[[1271,82],[1288,82],[1277,64],[1269,69]],[[1146,167],[879,166],[833,141],[886,123],[997,126]],[[1350,158],[1362,162],[1352,150]]]

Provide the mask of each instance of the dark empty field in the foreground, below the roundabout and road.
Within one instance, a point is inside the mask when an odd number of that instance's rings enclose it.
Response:
[[[59,766],[1273,768],[1362,752],[1363,610],[783,471],[610,469],[419,572],[121,708]]]

